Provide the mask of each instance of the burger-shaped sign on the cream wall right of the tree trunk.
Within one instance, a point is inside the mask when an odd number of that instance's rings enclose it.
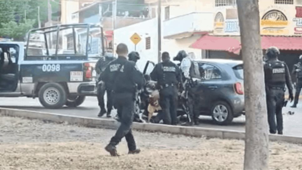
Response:
[[[261,19],[261,34],[284,35],[289,34],[287,17],[279,10],[271,10],[264,14]]]

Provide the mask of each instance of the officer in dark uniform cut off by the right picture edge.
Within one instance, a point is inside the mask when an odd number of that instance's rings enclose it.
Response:
[[[296,93],[295,93],[294,104],[291,107],[296,108],[302,88],[302,55],[300,55],[299,57],[299,63],[294,65],[292,73],[296,75]]]

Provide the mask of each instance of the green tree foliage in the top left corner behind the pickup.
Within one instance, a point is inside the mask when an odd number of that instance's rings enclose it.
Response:
[[[54,1],[51,0],[52,12],[58,13],[59,0]],[[38,6],[41,23],[45,23],[48,19],[47,0],[0,0],[0,36],[22,40],[29,29],[38,27]],[[53,20],[56,18],[58,16],[52,16]]]

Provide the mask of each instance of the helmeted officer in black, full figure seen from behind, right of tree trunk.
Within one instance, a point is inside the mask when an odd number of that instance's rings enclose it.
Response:
[[[292,101],[293,88],[286,63],[278,60],[280,54],[277,47],[269,47],[266,50],[268,61],[264,64],[266,102],[268,110],[269,132],[283,134],[282,107],[284,106],[285,84],[289,91],[289,98]],[[276,121],[277,119],[277,125]]]

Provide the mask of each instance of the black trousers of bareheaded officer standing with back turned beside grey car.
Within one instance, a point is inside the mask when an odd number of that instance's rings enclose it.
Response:
[[[177,124],[178,92],[176,86],[169,85],[159,91],[159,105],[162,108],[164,124]]]

